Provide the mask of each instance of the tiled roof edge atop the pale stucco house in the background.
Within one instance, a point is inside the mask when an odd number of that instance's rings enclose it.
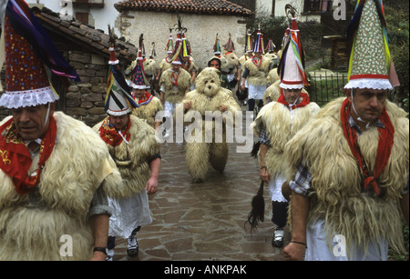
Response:
[[[252,15],[251,10],[226,0],[124,0],[114,6],[119,12],[142,10],[208,15]]]

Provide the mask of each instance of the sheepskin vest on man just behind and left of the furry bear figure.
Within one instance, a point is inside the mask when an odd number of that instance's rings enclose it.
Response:
[[[184,98],[185,91],[190,87],[190,73],[184,69],[179,70],[178,86],[172,85],[172,71],[165,71],[160,78],[159,84],[164,84],[164,99],[170,103],[180,103]]]

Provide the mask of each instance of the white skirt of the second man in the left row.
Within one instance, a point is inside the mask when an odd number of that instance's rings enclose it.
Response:
[[[115,200],[108,197],[108,204],[112,209],[112,215],[109,217],[110,236],[128,238],[138,225],[152,223],[148,194],[145,190],[125,199]]]

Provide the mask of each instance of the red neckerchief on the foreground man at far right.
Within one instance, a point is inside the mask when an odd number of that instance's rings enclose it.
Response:
[[[384,128],[377,128],[379,132],[379,143],[377,145],[377,154],[374,164],[373,175],[370,174],[370,170],[364,164],[364,158],[360,153],[359,145],[357,144],[357,134],[354,128],[349,125],[351,102],[346,98],[343,102],[341,109],[341,120],[343,127],[344,137],[347,139],[347,143],[350,146],[354,158],[364,174],[364,189],[367,189],[370,185],[373,187],[375,194],[380,194],[380,188],[377,183],[377,177],[383,172],[386,164],[389,161],[392,147],[394,144],[395,127],[390,121],[389,115],[385,109],[379,116],[380,121],[383,123]]]

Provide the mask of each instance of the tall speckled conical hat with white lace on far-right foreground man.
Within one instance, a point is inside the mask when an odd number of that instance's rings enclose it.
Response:
[[[381,0],[359,0],[349,25],[352,52],[345,89],[392,89],[398,85]],[[393,82],[395,81],[395,82]]]

